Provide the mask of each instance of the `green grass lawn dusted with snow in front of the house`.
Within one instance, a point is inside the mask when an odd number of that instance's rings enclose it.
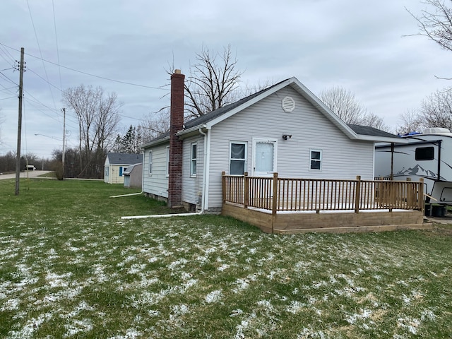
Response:
[[[103,182],[0,180],[0,338],[451,338],[452,229],[264,234]]]

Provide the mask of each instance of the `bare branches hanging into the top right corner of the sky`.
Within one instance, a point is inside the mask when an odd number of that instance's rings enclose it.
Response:
[[[429,6],[429,9],[422,10],[420,15],[416,16],[407,9],[408,13],[417,21],[419,27],[417,35],[428,37],[439,44],[442,49],[452,51],[452,8],[446,5],[446,3],[452,4],[452,1],[425,0],[421,2]]]

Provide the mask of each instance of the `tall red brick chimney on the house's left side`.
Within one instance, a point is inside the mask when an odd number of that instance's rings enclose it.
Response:
[[[184,129],[184,74],[180,69],[171,76],[171,109],[169,118],[168,206],[182,206],[182,140],[176,133]]]

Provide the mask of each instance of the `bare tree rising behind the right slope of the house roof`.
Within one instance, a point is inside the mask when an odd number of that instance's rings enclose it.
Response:
[[[367,112],[367,109],[350,90],[335,86],[328,90],[323,90],[319,97],[326,107],[331,109],[346,124],[371,126],[383,131],[388,131],[389,129],[381,117]]]

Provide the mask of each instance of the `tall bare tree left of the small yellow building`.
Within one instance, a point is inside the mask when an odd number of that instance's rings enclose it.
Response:
[[[78,119],[78,148],[81,177],[102,177],[105,154],[114,144],[119,124],[119,109],[115,93],[100,87],[79,85],[63,93],[64,103],[73,109]]]

